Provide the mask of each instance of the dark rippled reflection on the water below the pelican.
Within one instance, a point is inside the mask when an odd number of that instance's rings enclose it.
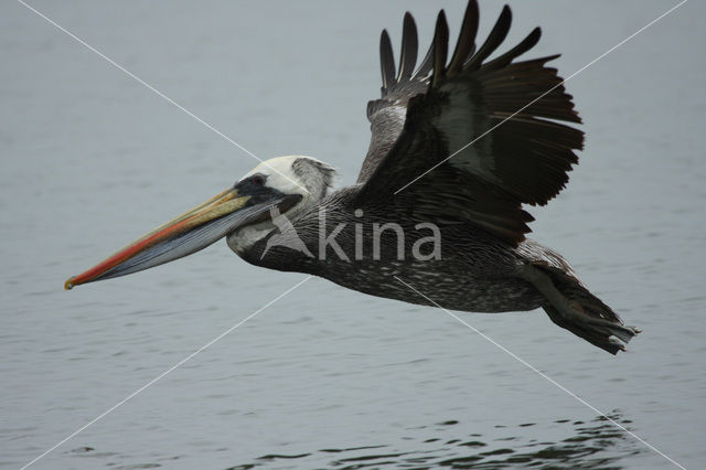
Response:
[[[630,420],[619,412],[610,418],[629,429]],[[449,427],[458,424],[451,420],[431,428]],[[539,441],[532,432],[522,430],[535,424],[527,423],[512,428],[513,434],[486,439],[472,434],[456,439],[430,437],[415,442],[417,450],[399,451],[394,446],[378,445],[343,449],[320,449],[299,455],[267,455],[254,462],[229,467],[228,470],[255,467],[325,467],[340,469],[360,468],[404,468],[425,469],[432,467],[498,469],[507,467],[566,468],[566,469],[620,469],[620,460],[644,451],[622,430],[605,417],[590,423],[559,419],[569,437],[559,441]],[[496,426],[496,428],[510,427]],[[445,436],[448,432],[440,432]],[[413,444],[413,442],[410,442]]]

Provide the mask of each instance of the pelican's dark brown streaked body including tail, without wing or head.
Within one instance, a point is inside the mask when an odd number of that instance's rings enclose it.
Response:
[[[420,260],[413,256],[413,246],[418,239],[428,237],[429,231],[418,229],[417,224],[404,214],[394,214],[383,207],[356,215],[346,204],[357,190],[359,186],[345,188],[291,218],[299,239],[307,246],[306,252],[286,245],[268,247],[269,238],[279,233],[275,231],[238,254],[256,266],[306,273],[349,289],[408,303],[489,313],[542,307],[555,323],[613,354],[623,345],[610,339],[611,335],[629,340],[638,332],[622,327],[618,314],[593,296],[568,261],[550,248],[527,238],[512,246],[472,224],[449,224],[439,225],[438,259],[426,259],[429,256],[425,256]],[[340,252],[331,245],[322,247],[322,212],[327,214],[324,236],[341,227],[333,238]],[[385,233],[379,238],[379,257],[373,257],[372,227],[391,223],[403,227],[404,238],[394,232]],[[237,233],[233,234],[233,238],[236,237]],[[356,242],[356,237],[362,243]],[[404,245],[402,258],[399,243]],[[431,247],[429,243],[426,245],[422,255],[430,255]],[[356,248],[362,257],[356,257]],[[584,314],[603,320],[588,328],[580,321],[565,319],[534,284],[536,276],[542,274],[560,287],[576,308],[580,306]],[[410,291],[409,286],[419,293]]]

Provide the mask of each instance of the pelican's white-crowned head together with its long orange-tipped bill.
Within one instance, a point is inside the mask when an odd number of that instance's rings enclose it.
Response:
[[[333,167],[311,157],[264,161],[232,188],[69,278],[64,286],[71,289],[148,269],[191,255],[226,236],[228,246],[240,255],[275,229],[274,214],[291,220],[323,199],[334,178]]]

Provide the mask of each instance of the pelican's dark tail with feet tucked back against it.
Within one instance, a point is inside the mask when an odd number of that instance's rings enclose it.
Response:
[[[531,265],[532,282],[545,296],[544,311],[557,325],[589,343],[617,354],[640,330],[625,327],[610,307],[593,296],[575,276],[564,270]]]

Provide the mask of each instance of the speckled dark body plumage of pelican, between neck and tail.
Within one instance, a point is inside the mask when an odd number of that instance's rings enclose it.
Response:
[[[414,242],[430,235],[429,231],[415,228],[420,221],[396,217],[384,206],[364,211],[363,216],[357,217],[354,207],[345,205],[353,191],[355,188],[334,193],[292,220],[297,234],[315,255],[314,258],[281,245],[271,247],[260,258],[268,237],[258,241],[240,256],[258,266],[312,274],[350,289],[410,303],[429,305],[397,281],[395,276],[449,309],[501,312],[532,310],[541,306],[539,292],[517,273],[517,266],[526,263],[527,256],[541,256],[543,248],[538,244],[526,241],[523,243],[526,248],[512,248],[471,224],[448,225],[440,227],[440,259],[417,260],[411,256]],[[333,227],[344,224],[335,241],[349,260],[341,259],[331,247],[322,259],[319,253],[320,211],[327,214],[327,235]],[[384,232],[381,258],[373,259],[373,224],[391,222],[398,223],[404,229],[405,258],[397,257],[396,234]],[[363,227],[362,259],[355,259],[356,225]]]

